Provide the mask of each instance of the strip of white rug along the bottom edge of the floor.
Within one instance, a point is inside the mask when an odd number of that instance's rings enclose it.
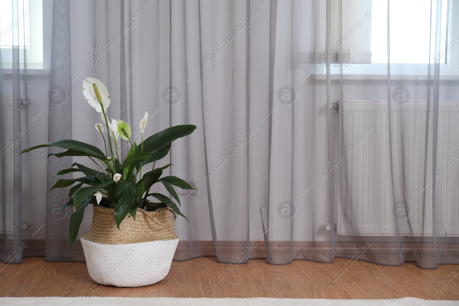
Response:
[[[413,297],[394,300],[326,300],[326,299],[213,299],[213,298],[129,298],[129,297],[2,297],[2,306],[458,306],[455,300],[421,300]]]

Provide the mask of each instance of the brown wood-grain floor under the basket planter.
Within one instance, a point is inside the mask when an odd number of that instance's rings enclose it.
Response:
[[[214,257],[173,261],[166,278],[140,288],[95,284],[82,262],[45,262],[24,258],[0,272],[0,296],[125,296],[125,297],[275,297],[327,299],[459,300],[459,266],[420,269],[415,263],[399,267],[355,262],[337,274],[347,259],[333,263],[293,261],[269,265],[261,259],[230,266]],[[341,275],[340,275],[341,274]],[[220,281],[219,281],[219,280]],[[330,280],[330,279],[334,279]],[[449,279],[449,281],[447,280]],[[209,281],[214,281],[212,287]],[[330,285],[325,286],[324,282]],[[438,284],[442,283],[442,286]],[[328,288],[328,289],[327,289]]]

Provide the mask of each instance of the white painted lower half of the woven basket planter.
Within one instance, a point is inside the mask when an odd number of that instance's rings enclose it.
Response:
[[[109,245],[81,238],[90,277],[99,284],[140,287],[169,273],[179,239]]]

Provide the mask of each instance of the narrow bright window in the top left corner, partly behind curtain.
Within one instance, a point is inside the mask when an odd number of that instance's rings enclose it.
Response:
[[[18,0],[17,20],[11,16],[11,0],[0,0],[0,48],[4,67],[12,62],[13,30],[17,29],[20,66],[43,68],[43,3],[42,0]],[[16,18],[14,18],[16,19]],[[24,52],[27,64],[24,64]]]

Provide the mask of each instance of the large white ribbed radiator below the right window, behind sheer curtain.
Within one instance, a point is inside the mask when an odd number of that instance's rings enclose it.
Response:
[[[387,110],[387,101],[340,103],[340,136],[336,137],[335,155],[342,157],[336,162],[340,163],[336,166],[336,182],[340,186],[337,189],[337,228],[340,235],[391,236],[397,233],[392,205]],[[436,205],[441,207],[436,216],[436,228],[446,231],[436,231],[436,234],[459,236],[459,106],[455,102],[441,102],[438,114],[437,167],[442,169],[437,168],[436,172]],[[401,187],[405,182],[405,201],[408,204],[396,199],[395,215],[401,225],[398,234],[409,235],[410,223],[415,236],[422,235],[423,230],[425,235],[431,235],[433,128],[426,121],[426,102],[411,101],[403,106],[391,106],[391,116],[394,184]],[[432,122],[431,118],[430,111],[429,122]],[[429,125],[430,131],[427,140],[426,125]],[[426,143],[430,144],[427,150],[427,167],[430,170],[424,182]],[[405,171],[402,172],[401,168]],[[429,207],[425,212],[424,200]]]

